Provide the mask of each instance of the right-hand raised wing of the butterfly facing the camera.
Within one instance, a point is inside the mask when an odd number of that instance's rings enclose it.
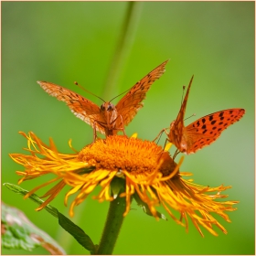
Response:
[[[139,80],[117,103],[117,112],[123,119],[123,123],[121,118],[117,119],[117,127],[123,127],[133,120],[133,117],[144,105],[142,101],[145,99],[146,92],[150,89],[155,80],[159,79],[165,73],[165,65],[168,61],[169,60],[166,60],[147,74],[142,80]]]

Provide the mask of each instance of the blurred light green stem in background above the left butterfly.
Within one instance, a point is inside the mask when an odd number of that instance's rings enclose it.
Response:
[[[121,70],[124,63],[130,54],[135,37],[136,27],[139,21],[141,6],[143,2],[128,2],[128,10],[123,24],[122,33],[120,35],[117,47],[112,57],[112,64],[110,66],[108,77],[105,82],[103,99],[110,100],[113,95],[113,91],[118,84],[118,80],[121,77]]]

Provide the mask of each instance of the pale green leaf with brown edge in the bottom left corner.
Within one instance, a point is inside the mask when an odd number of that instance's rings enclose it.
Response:
[[[32,251],[42,246],[51,254],[66,254],[55,240],[43,230],[38,229],[19,209],[2,203],[1,221],[4,248]]]

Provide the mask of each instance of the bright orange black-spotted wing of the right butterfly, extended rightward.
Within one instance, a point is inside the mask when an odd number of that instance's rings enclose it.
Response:
[[[229,125],[240,121],[244,113],[244,109],[214,112],[187,125],[187,154],[196,153],[197,150],[215,142]]]

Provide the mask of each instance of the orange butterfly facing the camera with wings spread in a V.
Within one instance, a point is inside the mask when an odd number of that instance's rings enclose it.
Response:
[[[164,74],[165,65],[168,61],[169,59],[133,85],[116,106],[111,101],[104,101],[101,107],[99,107],[92,101],[80,96],[80,94],[57,84],[48,81],[37,81],[37,83],[49,95],[56,97],[59,101],[66,102],[71,112],[85,123],[90,124],[93,127],[93,138],[95,141],[96,131],[106,136],[116,134],[120,130],[125,134],[124,126],[130,123],[135,114],[143,107],[142,101],[145,99],[146,92],[150,89],[153,82]]]

